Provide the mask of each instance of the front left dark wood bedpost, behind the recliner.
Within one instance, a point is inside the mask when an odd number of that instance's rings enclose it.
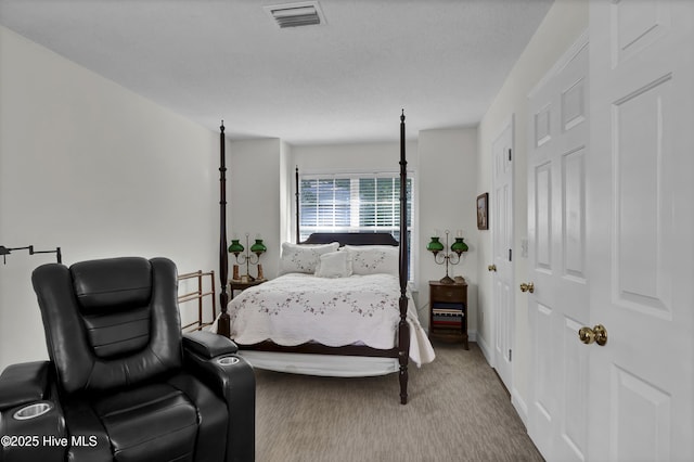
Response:
[[[229,284],[229,254],[227,252],[227,152],[224,142],[224,120],[219,127],[219,280],[221,291],[219,293],[219,305],[221,313],[217,321],[217,333],[229,337],[231,325],[229,322],[229,313],[227,305],[229,304],[229,294],[227,285]]]

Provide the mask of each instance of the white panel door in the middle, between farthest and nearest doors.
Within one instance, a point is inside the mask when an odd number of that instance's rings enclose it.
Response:
[[[588,60],[582,36],[529,95],[528,433],[548,460],[587,457],[589,351],[576,333],[589,319]]]

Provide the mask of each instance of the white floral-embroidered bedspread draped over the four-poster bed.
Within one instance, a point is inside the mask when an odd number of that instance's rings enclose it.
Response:
[[[271,339],[295,346],[362,344],[389,349],[397,344],[400,285],[390,274],[316,278],[290,273],[247,288],[229,303],[231,338],[239,344]],[[408,293],[410,358],[417,365],[435,358]]]

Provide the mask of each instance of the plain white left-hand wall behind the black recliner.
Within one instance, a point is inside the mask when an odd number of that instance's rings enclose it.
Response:
[[[217,269],[217,127],[204,128],[0,27],[0,244],[63,262],[166,256]],[[47,358],[30,284],[0,265],[0,370]]]

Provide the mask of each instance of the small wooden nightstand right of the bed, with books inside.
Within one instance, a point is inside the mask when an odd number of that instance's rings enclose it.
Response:
[[[429,336],[467,344],[467,283],[429,281]]]

